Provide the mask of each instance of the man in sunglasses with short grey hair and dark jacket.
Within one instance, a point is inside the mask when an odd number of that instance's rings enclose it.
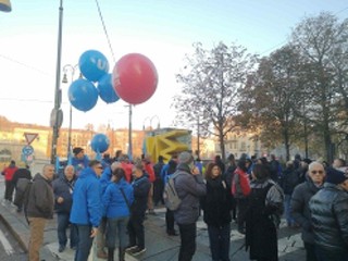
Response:
[[[296,186],[291,195],[290,214],[302,229],[301,236],[306,249],[306,261],[318,261],[309,200],[322,188],[325,170],[322,163],[315,161],[310,163],[308,169],[306,182]]]

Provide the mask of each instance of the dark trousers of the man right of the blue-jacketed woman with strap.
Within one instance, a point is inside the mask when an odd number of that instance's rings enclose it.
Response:
[[[128,222],[129,246],[145,247],[145,213],[132,213]]]

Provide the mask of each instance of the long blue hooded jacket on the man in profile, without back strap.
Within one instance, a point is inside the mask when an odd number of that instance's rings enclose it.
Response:
[[[75,183],[70,221],[98,227],[101,220],[101,186],[91,167],[83,170]]]

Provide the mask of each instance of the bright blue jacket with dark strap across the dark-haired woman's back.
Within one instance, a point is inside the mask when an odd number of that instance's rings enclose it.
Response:
[[[102,196],[102,204],[108,219],[129,216],[129,208],[121,192],[123,189],[129,206],[134,201],[133,187],[124,178],[119,183],[109,183],[105,192]]]

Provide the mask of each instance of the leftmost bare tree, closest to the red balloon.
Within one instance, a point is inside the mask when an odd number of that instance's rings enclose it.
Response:
[[[257,55],[247,49],[220,42],[212,50],[203,49],[200,42],[194,45],[195,52],[186,55],[187,64],[176,75],[182,94],[174,97],[177,122],[186,126],[199,125],[199,134],[217,137],[223,160],[224,139],[236,122],[237,102],[247,76],[254,70]]]

